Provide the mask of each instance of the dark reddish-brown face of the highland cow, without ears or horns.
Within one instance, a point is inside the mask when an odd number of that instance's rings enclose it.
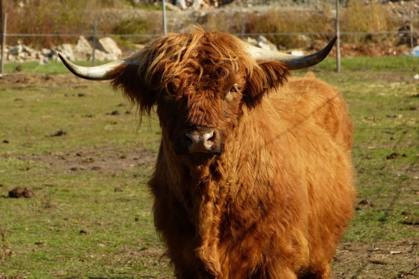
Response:
[[[228,62],[190,66],[157,96],[163,135],[179,156],[203,160],[223,152],[224,142],[242,114],[245,71]],[[199,65],[199,66],[198,66]],[[200,73],[200,75],[196,75]]]

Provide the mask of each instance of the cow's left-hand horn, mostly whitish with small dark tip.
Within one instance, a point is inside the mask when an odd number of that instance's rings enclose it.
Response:
[[[58,54],[58,56],[71,73],[86,80],[110,80],[110,70],[112,70],[112,68],[115,68],[123,63],[133,63],[133,61],[116,60],[101,66],[82,67],[71,63],[61,54]]]

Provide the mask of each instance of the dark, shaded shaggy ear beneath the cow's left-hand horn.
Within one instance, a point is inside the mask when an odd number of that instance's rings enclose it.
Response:
[[[144,67],[142,67],[144,68]],[[156,103],[156,91],[152,90],[145,82],[145,73],[142,68],[130,64],[122,64],[112,69],[112,88],[121,90],[128,100],[138,105],[140,115],[150,114],[154,103]]]

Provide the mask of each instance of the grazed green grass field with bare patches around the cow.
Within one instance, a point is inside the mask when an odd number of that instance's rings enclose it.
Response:
[[[326,59],[347,100],[358,205],[335,278],[414,278],[419,264],[419,59]],[[151,215],[154,116],[61,63],[0,79],[0,278],[172,278]],[[304,75],[303,71],[294,73]],[[6,198],[15,187],[31,199]]]

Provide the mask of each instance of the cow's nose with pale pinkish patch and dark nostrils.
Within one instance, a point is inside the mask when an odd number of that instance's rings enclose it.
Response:
[[[203,128],[198,130],[186,130],[188,138],[188,149],[191,153],[203,152],[209,153],[214,145],[216,131],[212,128]]]

